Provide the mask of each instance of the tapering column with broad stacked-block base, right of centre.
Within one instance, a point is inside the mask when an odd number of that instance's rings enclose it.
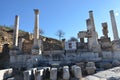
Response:
[[[87,25],[87,36],[88,36],[88,48],[90,51],[93,52],[100,52],[100,44],[98,43],[98,34],[95,31],[94,27],[94,20],[92,16],[92,12],[90,13],[90,18],[86,20],[86,25]]]

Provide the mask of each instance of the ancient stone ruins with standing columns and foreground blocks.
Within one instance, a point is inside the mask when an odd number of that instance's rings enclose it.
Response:
[[[114,40],[109,37],[109,26],[103,22],[103,36],[98,38],[93,11],[89,11],[86,31],[79,31],[79,41],[61,41],[61,47],[44,47],[47,38],[39,34],[39,10],[34,9],[34,34],[18,38],[19,16],[15,17],[13,46],[9,51],[9,67],[0,70],[6,80],[119,80],[120,39],[114,11],[110,18]],[[84,39],[87,38],[87,42]],[[107,70],[108,69],[108,70]],[[115,73],[114,73],[115,72]],[[118,74],[117,74],[118,73]],[[109,76],[108,76],[109,74]]]

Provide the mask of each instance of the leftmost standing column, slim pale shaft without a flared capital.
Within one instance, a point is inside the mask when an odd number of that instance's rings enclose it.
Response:
[[[19,16],[15,16],[15,25],[13,33],[13,46],[18,46],[18,34],[19,34]]]

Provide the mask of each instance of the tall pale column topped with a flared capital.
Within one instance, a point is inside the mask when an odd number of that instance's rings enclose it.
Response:
[[[39,10],[34,9],[35,12],[35,25],[34,25],[34,46],[38,45],[39,39]]]

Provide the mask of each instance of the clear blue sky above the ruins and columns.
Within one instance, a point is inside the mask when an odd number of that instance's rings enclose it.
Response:
[[[108,23],[109,36],[113,39],[109,11],[114,10],[120,30],[120,0],[0,0],[0,25],[14,25],[15,15],[20,16],[20,29],[33,32],[34,11],[40,10],[40,28],[48,37],[58,38],[58,30],[69,39],[86,30],[89,10],[93,10],[96,31],[102,36],[102,22]],[[120,32],[119,32],[120,35]]]

